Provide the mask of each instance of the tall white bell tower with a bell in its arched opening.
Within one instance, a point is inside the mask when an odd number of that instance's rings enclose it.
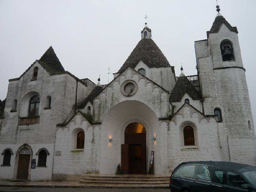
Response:
[[[256,166],[256,137],[237,27],[219,13],[219,5],[216,8],[207,39],[195,42],[204,113],[220,116],[222,160]]]

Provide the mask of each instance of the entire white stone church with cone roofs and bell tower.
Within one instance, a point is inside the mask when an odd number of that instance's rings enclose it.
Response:
[[[256,166],[237,33],[218,13],[195,41],[197,74],[185,76],[146,23],[107,85],[65,71],[50,47],[0,101],[0,179],[70,181],[115,174],[119,163],[124,174],[160,175],[184,161]]]

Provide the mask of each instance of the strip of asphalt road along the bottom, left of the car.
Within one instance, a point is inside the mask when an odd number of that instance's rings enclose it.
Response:
[[[42,188],[42,187],[0,187],[0,192],[170,192],[169,189],[95,189],[95,188]]]

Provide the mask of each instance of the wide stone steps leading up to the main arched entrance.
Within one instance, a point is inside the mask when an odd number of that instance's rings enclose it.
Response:
[[[113,187],[169,187],[170,176],[159,175],[88,175],[80,180],[87,186],[113,186]]]

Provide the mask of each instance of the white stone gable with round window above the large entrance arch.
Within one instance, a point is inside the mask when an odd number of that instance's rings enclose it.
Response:
[[[165,117],[168,110],[168,91],[134,69],[128,68],[94,99],[94,120],[101,122],[111,107],[126,100],[147,104],[158,117]]]

